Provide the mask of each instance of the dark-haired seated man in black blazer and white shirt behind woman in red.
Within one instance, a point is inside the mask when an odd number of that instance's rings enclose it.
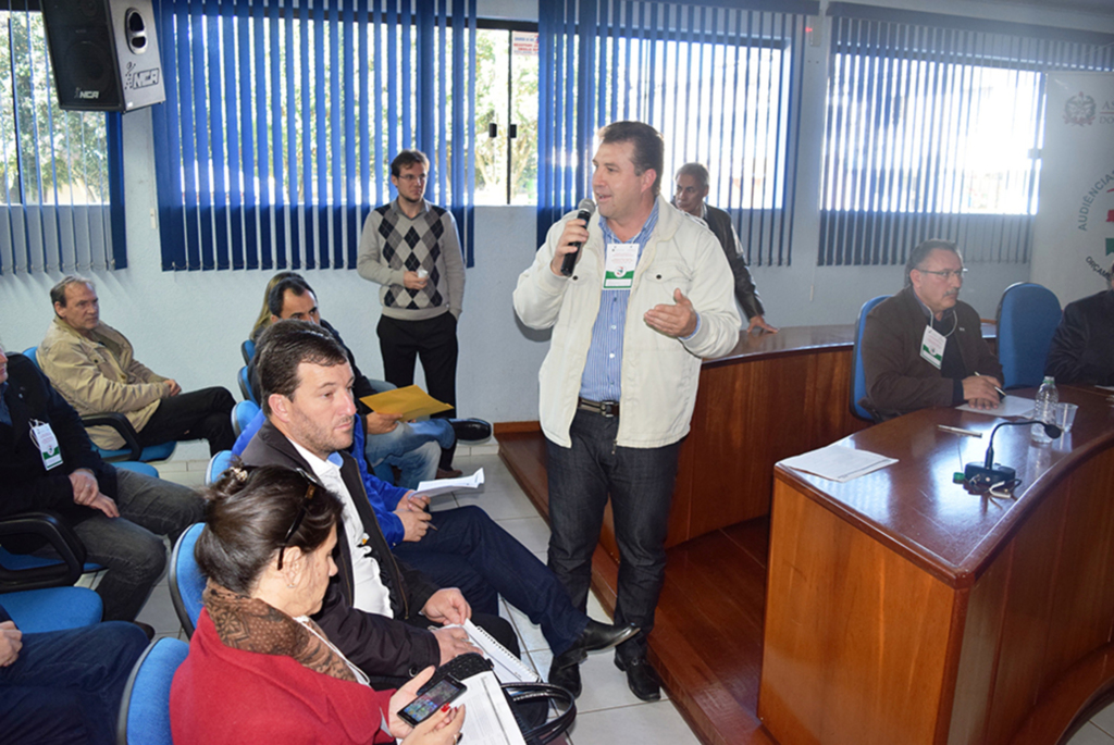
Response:
[[[471,616],[456,588],[438,589],[397,560],[368,502],[352,443],[355,405],[352,367],[323,329],[280,321],[256,349],[266,423],[244,450],[246,465],[287,465],[314,473],[344,503],[330,580],[314,617],[329,639],[377,682],[397,683],[429,665],[476,649],[459,628]],[[514,630],[501,618],[473,621],[518,654]]]

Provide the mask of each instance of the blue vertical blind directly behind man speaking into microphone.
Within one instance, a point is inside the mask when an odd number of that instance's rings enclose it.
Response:
[[[711,173],[758,265],[791,261],[805,14],[819,3],[540,0],[538,242],[590,196],[596,130],[644,121],[676,169]]]

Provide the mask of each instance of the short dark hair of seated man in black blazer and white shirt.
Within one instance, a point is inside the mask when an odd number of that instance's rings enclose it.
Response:
[[[290,318],[275,321],[264,330],[256,342],[255,359],[263,398],[260,403],[263,413],[270,416],[272,393],[294,398],[294,391],[302,382],[297,376],[300,364],[332,367],[346,363],[348,354],[321,326]]]

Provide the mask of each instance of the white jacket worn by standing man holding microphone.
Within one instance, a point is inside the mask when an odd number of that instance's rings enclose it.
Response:
[[[661,448],[688,432],[696,402],[701,357],[726,354],[739,342],[731,266],[715,235],[700,220],[657,198],[657,226],[642,251],[627,301],[623,331],[622,409],[616,444]],[[598,213],[571,277],[549,268],[565,220],[549,228],[534,264],[518,277],[515,312],[531,329],[553,327],[549,353],[538,373],[545,435],[569,448],[580,376],[599,313],[604,242]],[[680,288],[700,313],[696,334],[681,341],[654,331],[643,320],[649,308],[673,304]]]

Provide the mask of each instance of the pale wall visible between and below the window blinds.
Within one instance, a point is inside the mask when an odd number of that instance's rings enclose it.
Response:
[[[891,0],[878,4],[925,9],[926,3]],[[536,6],[527,0],[483,0],[481,13],[488,6],[494,16],[536,18]],[[1004,3],[941,0],[931,10],[1114,31],[1114,18],[1081,20],[1071,13],[1018,10]],[[793,264],[754,269],[768,320],[780,325],[851,323],[866,300],[901,285],[901,272],[896,267],[815,266],[824,63],[823,47],[810,48]],[[131,340],[143,362],[173,375],[187,390],[224,385],[235,392],[236,371],[243,364],[240,343],[260,310],[270,274],[163,272],[158,231],[152,217],[155,154],[149,111],[125,116],[124,141],[129,266],[119,272],[88,273],[98,283],[101,315]],[[491,421],[536,419],[537,370],[548,342],[545,334],[518,324],[510,304],[515,280],[534,254],[534,213],[529,207],[479,207],[477,216],[476,267],[468,271],[460,324],[458,408],[461,415]],[[361,367],[370,376],[380,376],[374,334],[380,314],[378,286],[354,271],[305,274],[317,291],[324,316],[344,335]],[[973,265],[962,296],[984,317],[993,317],[1001,291],[1028,275],[1027,265]],[[6,349],[22,350],[42,339],[52,316],[47,292],[59,277],[57,272],[0,277],[0,341]],[[197,444],[179,448],[178,453],[202,458],[205,451]]]

